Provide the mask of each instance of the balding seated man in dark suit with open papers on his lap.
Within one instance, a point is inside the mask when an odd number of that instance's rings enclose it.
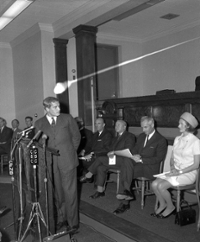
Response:
[[[132,166],[133,161],[129,158],[116,156],[116,164],[110,164],[110,158],[113,158],[115,151],[123,149],[131,149],[135,145],[135,136],[132,133],[126,131],[127,124],[123,120],[117,120],[115,124],[115,131],[117,136],[112,139],[110,152],[107,156],[98,157],[95,162],[88,168],[89,172],[82,177],[81,182],[85,182],[96,174],[97,192],[90,196],[92,199],[96,199],[105,196],[104,184],[107,176],[107,171],[111,168],[120,169],[120,182],[119,193],[124,194],[124,199],[134,199],[133,194],[130,192],[130,187],[133,179]]]

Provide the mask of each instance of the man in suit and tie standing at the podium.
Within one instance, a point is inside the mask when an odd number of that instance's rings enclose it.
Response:
[[[53,157],[53,181],[57,209],[56,231],[67,224],[67,229],[77,230],[77,149],[80,132],[70,114],[60,113],[60,103],[55,97],[43,101],[46,115],[35,122],[35,131],[47,136],[47,146],[57,149],[59,156]]]

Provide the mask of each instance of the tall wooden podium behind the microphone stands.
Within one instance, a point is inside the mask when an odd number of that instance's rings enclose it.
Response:
[[[20,208],[18,214],[14,216],[17,218],[17,221],[14,221],[14,223],[19,223],[19,241],[21,241],[20,238],[25,235],[24,233],[26,232],[32,205],[36,202],[35,200],[40,204],[41,212],[47,224],[47,226],[45,226],[43,222],[40,222],[41,237],[44,238],[55,233],[52,163],[53,156],[59,155],[58,150],[36,142],[34,142],[30,148],[27,148],[28,143],[28,140],[21,140],[17,145],[14,155],[15,186],[19,191],[19,198],[15,205]],[[38,164],[36,168],[34,168],[35,166],[31,163],[30,158],[30,151],[33,147],[37,150],[38,155]],[[34,174],[36,174],[36,176]],[[35,179],[37,180],[36,190]],[[35,199],[35,191],[37,191],[37,199]],[[33,220],[30,227],[31,232],[35,234],[38,233],[38,226],[36,223],[37,220]]]

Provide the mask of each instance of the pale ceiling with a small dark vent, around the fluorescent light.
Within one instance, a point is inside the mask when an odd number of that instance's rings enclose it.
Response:
[[[12,1],[0,0],[0,13]],[[98,34],[147,41],[200,25],[200,0],[35,0],[0,31],[0,42],[12,43],[34,26],[69,39],[80,24],[97,26]]]

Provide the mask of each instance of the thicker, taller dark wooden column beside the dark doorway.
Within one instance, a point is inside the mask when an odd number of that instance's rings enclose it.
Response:
[[[86,125],[92,124],[93,100],[96,97],[95,81],[95,43],[97,28],[93,26],[79,25],[73,29],[76,37],[77,79],[78,79],[78,108]],[[93,80],[93,87],[91,87]],[[94,99],[92,99],[92,90]]]

